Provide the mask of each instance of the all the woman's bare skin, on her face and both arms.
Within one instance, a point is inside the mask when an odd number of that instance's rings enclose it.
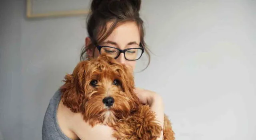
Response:
[[[90,43],[89,37],[86,37],[85,43],[86,46],[88,46]],[[104,43],[100,45],[126,49],[134,47],[139,43],[140,33],[138,26],[133,22],[127,22],[118,26],[104,41]],[[98,57],[99,54],[100,53],[96,48],[94,50],[87,51],[87,55],[91,57],[94,56],[94,58]],[[120,54],[116,60],[122,64],[126,64],[126,66],[132,70],[134,70],[136,67],[136,61],[126,60],[123,53]],[[135,91],[142,103],[148,103],[152,111],[156,112],[156,119],[163,127],[164,105],[162,98],[155,92],[146,89],[136,88]],[[81,140],[116,140],[114,137],[112,137],[112,128],[100,124],[91,127],[88,123],[84,122],[80,113],[72,113],[70,109],[62,104],[62,102],[60,102],[57,110],[57,118],[62,132],[73,140],[78,138]],[[158,140],[162,140],[162,134]]]

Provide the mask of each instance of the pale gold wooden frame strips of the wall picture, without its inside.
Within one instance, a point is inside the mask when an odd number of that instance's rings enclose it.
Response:
[[[68,11],[46,12],[46,13],[33,14],[32,2],[33,2],[33,0],[26,1],[26,16],[27,16],[27,18],[79,16],[79,15],[89,14],[89,12],[90,12],[90,10],[68,10]]]

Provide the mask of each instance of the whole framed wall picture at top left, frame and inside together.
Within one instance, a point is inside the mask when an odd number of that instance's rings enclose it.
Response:
[[[66,8],[62,10],[60,7],[64,5],[63,2],[66,2]],[[26,0],[26,17],[47,18],[86,15],[90,12],[86,6],[88,4],[89,0]],[[54,6],[58,10],[55,10]]]

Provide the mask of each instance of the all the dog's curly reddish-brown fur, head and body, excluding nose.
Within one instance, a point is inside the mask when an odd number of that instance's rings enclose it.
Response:
[[[92,81],[96,80],[96,86]],[[115,81],[114,81],[115,80]],[[132,72],[113,58],[98,58],[78,63],[72,74],[65,76],[60,88],[64,105],[74,113],[82,113],[91,126],[97,123],[111,126],[118,140],[156,140],[162,127],[148,105],[142,105],[134,93]],[[95,84],[95,83],[94,83]],[[106,107],[103,98],[114,98]],[[164,140],[174,140],[167,116],[164,118]]]

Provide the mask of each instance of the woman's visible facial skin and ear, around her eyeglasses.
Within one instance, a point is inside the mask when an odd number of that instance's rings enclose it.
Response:
[[[109,26],[108,26],[109,27]],[[90,42],[90,39],[86,38],[86,45]],[[140,33],[138,26],[134,22],[126,22],[114,29],[114,31],[106,38],[105,41],[103,41],[101,46],[109,46],[109,47],[115,47],[118,49],[128,49],[128,48],[138,48],[140,44]],[[94,55],[93,55],[94,52]],[[87,51],[88,56],[94,56],[94,58],[98,57],[100,55],[100,52],[97,48],[95,50],[88,50]],[[128,56],[128,53],[126,54],[126,58]],[[136,65],[135,61],[129,61],[126,60],[124,57],[124,53],[121,53],[116,60],[122,64],[125,64],[126,66],[132,68],[134,70]]]

